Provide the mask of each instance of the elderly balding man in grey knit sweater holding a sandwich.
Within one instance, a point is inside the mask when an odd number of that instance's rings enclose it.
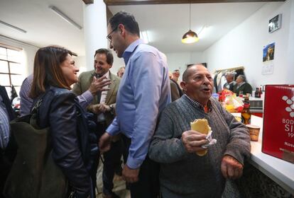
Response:
[[[249,130],[213,98],[213,79],[202,65],[186,69],[181,83],[185,95],[160,115],[149,156],[160,163],[163,198],[222,197],[226,178],[241,177],[250,157]],[[207,144],[205,134],[192,131],[190,122],[207,119],[217,144],[197,156]]]

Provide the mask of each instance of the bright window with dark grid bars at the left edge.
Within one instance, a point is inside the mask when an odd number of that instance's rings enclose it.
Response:
[[[0,46],[0,85],[5,86],[6,91],[11,95],[11,86],[19,93],[22,78],[22,54],[20,50],[12,50]]]

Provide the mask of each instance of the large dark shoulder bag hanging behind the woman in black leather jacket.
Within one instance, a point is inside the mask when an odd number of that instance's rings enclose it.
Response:
[[[38,100],[30,115],[18,117],[10,123],[18,151],[4,187],[6,197],[67,196],[66,177],[51,155],[50,128],[40,129],[37,124],[42,100]]]

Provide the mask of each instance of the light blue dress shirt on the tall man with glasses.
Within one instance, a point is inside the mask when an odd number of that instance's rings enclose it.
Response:
[[[107,128],[131,138],[129,168],[146,158],[159,113],[170,103],[168,64],[163,53],[136,40],[123,54],[126,70],[116,95],[116,117]]]

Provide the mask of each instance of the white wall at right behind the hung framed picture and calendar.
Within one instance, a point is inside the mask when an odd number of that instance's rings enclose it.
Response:
[[[293,0],[267,3],[205,50],[203,57],[209,71],[244,66],[246,77],[253,87],[268,83],[294,83],[293,4]],[[268,33],[269,19],[279,13],[282,14],[282,28]],[[262,75],[263,47],[272,42],[276,43],[273,74]]]

